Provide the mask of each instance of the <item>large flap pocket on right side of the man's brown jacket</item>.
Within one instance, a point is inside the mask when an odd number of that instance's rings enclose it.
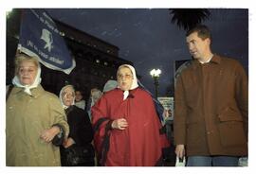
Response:
[[[247,143],[243,118],[234,109],[226,108],[218,115],[218,129],[223,147],[239,147]]]

